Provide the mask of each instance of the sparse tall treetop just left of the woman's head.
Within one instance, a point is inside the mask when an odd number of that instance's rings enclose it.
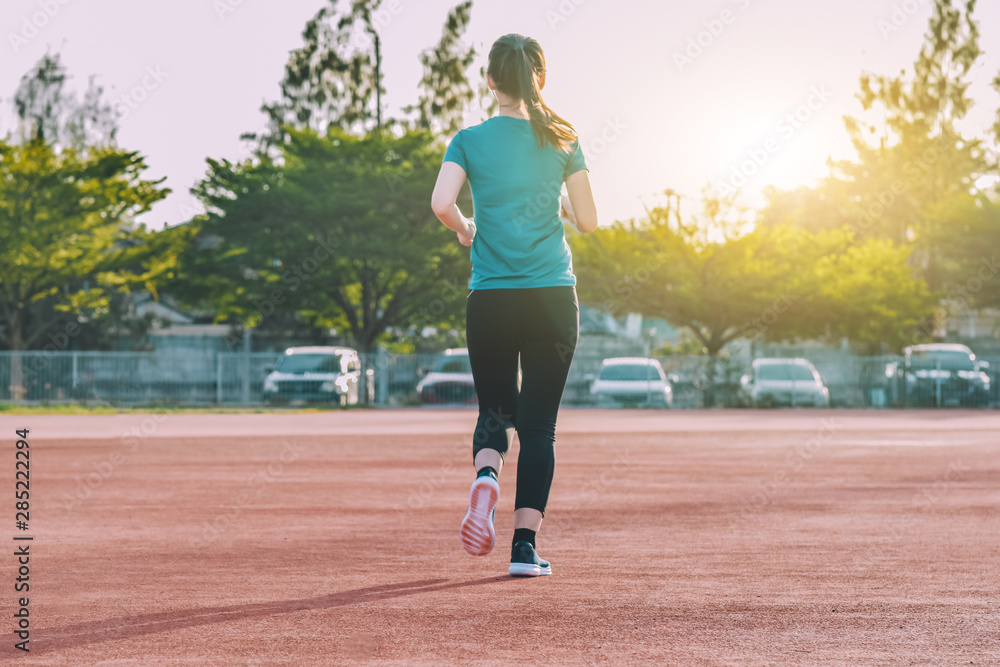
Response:
[[[472,0],[465,0],[452,8],[441,40],[433,49],[420,54],[420,64],[424,68],[419,86],[420,99],[404,109],[407,113],[417,112],[415,124],[418,128],[436,134],[454,134],[461,129],[465,111],[476,97],[467,74],[476,57],[476,50],[461,42],[471,12]]]

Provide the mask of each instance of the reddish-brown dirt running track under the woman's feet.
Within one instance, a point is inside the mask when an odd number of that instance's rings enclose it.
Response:
[[[514,456],[497,548],[462,551],[474,422],[0,417],[0,661],[1000,664],[998,413],[564,411],[553,575],[527,580],[506,574]]]

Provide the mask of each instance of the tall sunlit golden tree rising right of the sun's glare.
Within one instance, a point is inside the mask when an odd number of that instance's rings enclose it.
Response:
[[[950,233],[937,211],[971,196],[990,168],[983,142],[958,128],[972,107],[970,73],[982,53],[976,0],[962,4],[936,0],[912,75],[862,75],[858,99],[869,120],[845,119],[858,159],[835,165],[859,238],[914,242],[912,261],[933,289],[944,286],[935,240]]]

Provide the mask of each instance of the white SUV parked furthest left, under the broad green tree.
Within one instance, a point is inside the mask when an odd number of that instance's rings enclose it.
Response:
[[[361,362],[356,350],[349,347],[290,347],[264,379],[263,397],[267,403],[355,405],[360,397],[360,379]]]

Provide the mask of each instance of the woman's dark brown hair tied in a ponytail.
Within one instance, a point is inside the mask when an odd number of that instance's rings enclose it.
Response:
[[[504,35],[493,42],[486,73],[501,93],[524,100],[539,146],[551,144],[559,150],[569,151],[577,140],[576,131],[546,106],[538,87],[539,78],[545,74],[545,54],[538,42],[514,33]]]

